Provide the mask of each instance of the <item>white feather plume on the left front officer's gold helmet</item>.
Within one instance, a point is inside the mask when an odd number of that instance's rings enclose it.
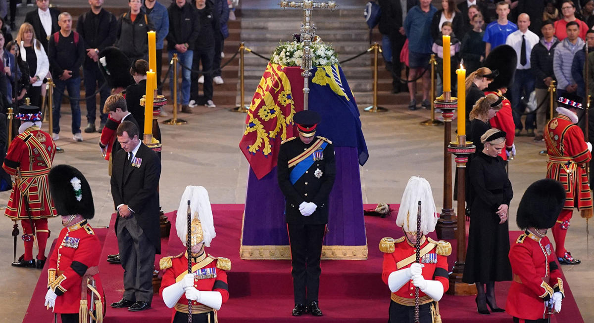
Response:
[[[210,247],[210,241],[216,236],[214,232],[213,211],[208,199],[208,191],[202,186],[186,186],[182,199],[179,201],[178,215],[175,220],[175,229],[182,244],[186,244],[188,234],[188,200],[192,219],[200,220],[204,235],[204,245]]]

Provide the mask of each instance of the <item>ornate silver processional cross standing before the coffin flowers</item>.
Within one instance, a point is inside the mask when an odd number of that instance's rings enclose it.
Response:
[[[314,2],[305,0],[302,2],[296,1],[281,1],[280,8],[303,8],[303,23],[301,24],[301,42],[303,43],[303,59],[301,60],[301,76],[303,76],[303,110],[308,110],[309,105],[309,76],[311,76],[311,48],[309,45],[314,40],[315,24],[311,23],[311,11],[314,8],[320,9],[336,9],[338,5],[334,1],[328,2]]]

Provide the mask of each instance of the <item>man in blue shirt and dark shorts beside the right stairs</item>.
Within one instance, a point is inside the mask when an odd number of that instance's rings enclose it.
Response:
[[[409,110],[416,110],[416,82],[410,82],[416,79],[429,65],[431,56],[431,20],[437,12],[437,8],[431,5],[431,0],[420,0],[419,5],[412,7],[406,14],[404,23],[406,38],[409,40]],[[429,103],[429,73],[424,73],[423,79],[423,103],[425,108],[431,108]]]

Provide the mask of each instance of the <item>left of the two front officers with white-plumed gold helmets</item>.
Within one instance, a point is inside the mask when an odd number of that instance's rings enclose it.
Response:
[[[191,201],[191,232],[188,232],[188,200]],[[165,305],[173,309],[172,322],[188,322],[188,300],[191,300],[192,322],[217,323],[217,311],[229,299],[226,271],[231,270],[231,261],[204,251],[204,246],[210,247],[216,236],[213,212],[204,187],[186,187],[179,202],[175,228],[182,244],[186,245],[188,238],[191,240],[191,254],[186,251],[160,260],[160,268],[165,273],[159,293]],[[188,273],[188,257],[191,257],[192,273]]]

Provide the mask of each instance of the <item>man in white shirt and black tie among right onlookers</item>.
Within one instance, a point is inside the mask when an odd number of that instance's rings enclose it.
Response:
[[[514,84],[510,88],[510,101],[514,124],[516,125],[516,136],[519,136],[523,129],[522,113],[524,113],[523,106],[520,105],[520,98],[522,96],[527,98],[534,91],[535,78],[530,69],[530,53],[532,52],[532,47],[538,44],[539,38],[535,33],[528,30],[530,17],[527,14],[520,14],[518,16],[517,25],[518,30],[507,36],[505,44],[513,47],[518,57]],[[535,114],[528,114],[526,116],[526,131],[528,136],[534,136],[535,121]]]

